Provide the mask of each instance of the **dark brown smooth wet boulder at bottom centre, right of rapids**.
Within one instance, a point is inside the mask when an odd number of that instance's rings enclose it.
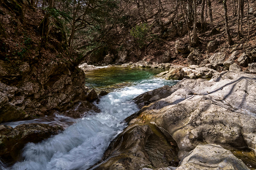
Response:
[[[145,166],[178,166],[176,142],[155,125],[129,127],[106,150],[95,169],[142,169]]]

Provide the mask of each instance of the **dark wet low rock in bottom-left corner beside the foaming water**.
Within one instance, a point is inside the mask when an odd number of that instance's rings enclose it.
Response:
[[[52,135],[59,134],[63,128],[42,123],[18,125],[12,128],[0,125],[0,158],[4,163],[19,161],[20,151],[28,142],[40,142]]]

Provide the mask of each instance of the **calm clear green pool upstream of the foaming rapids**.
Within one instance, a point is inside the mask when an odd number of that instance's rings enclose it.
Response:
[[[86,86],[99,90],[113,91],[116,88],[134,85],[154,75],[164,72],[164,69],[131,68],[109,66],[86,72]]]

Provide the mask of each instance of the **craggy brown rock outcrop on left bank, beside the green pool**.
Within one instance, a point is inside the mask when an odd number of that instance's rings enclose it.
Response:
[[[12,63],[0,61],[0,123],[28,120],[65,111],[86,100],[85,74],[65,62]]]

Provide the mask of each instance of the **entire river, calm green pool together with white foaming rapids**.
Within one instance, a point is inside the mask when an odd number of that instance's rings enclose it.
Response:
[[[153,76],[161,70],[103,68],[86,74],[86,85],[111,91],[96,104],[102,112],[74,120],[61,134],[23,149],[23,160],[10,169],[57,170],[89,169],[126,126],[129,115],[138,112],[132,98],[176,81]],[[63,117],[62,117],[63,118]]]

